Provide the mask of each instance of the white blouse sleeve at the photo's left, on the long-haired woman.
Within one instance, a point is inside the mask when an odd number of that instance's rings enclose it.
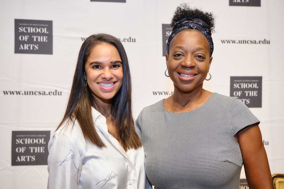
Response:
[[[76,146],[63,132],[54,134],[48,145],[47,169],[49,177],[47,188],[77,189],[82,160]]]

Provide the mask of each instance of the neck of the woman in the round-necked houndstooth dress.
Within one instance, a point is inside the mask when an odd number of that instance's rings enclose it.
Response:
[[[178,87],[176,86],[174,87],[175,89],[174,89],[174,94],[172,95],[172,100],[174,103],[177,103],[182,107],[185,107],[186,105],[192,102],[197,102],[201,100],[204,94],[206,93],[206,91],[202,88],[203,83],[190,92],[182,91],[178,89]]]

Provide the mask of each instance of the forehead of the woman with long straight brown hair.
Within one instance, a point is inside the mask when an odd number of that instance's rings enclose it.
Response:
[[[99,43],[95,45],[87,61],[121,60],[117,48],[109,43]]]

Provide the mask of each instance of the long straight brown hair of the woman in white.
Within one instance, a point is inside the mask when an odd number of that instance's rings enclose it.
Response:
[[[91,106],[96,107],[91,89],[85,87],[85,63],[93,47],[99,43],[109,43],[114,45],[122,60],[123,80],[122,86],[112,100],[112,117],[117,126],[118,137],[124,149],[137,149],[142,146],[138,135],[134,129],[134,120],[131,109],[131,77],[128,59],[122,43],[112,35],[97,34],[88,37],[82,44],[78,56],[77,66],[73,78],[72,88],[66,112],[60,126],[67,120],[75,118],[82,130],[85,140],[90,141],[99,147],[105,147],[93,125]],[[74,122],[73,122],[74,124]],[[65,124],[67,126],[67,124]],[[64,127],[65,127],[64,126]]]

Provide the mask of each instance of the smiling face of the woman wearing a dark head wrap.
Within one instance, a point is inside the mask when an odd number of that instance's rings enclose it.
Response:
[[[175,35],[166,54],[175,89],[187,93],[202,88],[212,61],[209,50],[206,37],[198,30],[183,30]]]

